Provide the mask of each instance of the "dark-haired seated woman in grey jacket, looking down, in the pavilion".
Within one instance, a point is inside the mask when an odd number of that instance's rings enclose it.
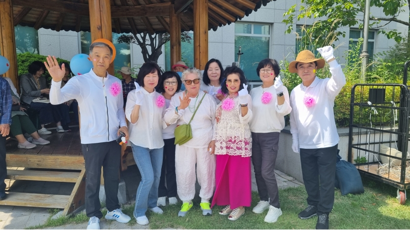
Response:
[[[21,75],[21,101],[30,105],[30,109],[39,112],[39,120],[41,129],[39,134],[51,134],[50,131],[44,128],[44,125],[55,122],[57,124],[57,132],[65,132],[63,124],[68,124],[70,118],[68,109],[59,105],[51,105],[51,103],[33,102],[34,99],[44,99],[50,94],[50,89],[47,89],[46,79],[42,74],[45,70],[45,65],[41,61],[34,61],[28,66],[28,73]]]

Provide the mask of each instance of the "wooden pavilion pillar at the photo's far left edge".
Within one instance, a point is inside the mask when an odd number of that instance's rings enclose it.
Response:
[[[0,0],[0,54],[5,56],[10,62],[9,71],[4,76],[8,76],[17,88],[17,91],[20,92],[17,78],[17,53],[11,0]]]

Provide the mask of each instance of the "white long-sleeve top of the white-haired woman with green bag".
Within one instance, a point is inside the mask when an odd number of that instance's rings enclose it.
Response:
[[[182,98],[182,94],[183,92],[177,93],[171,98],[171,102],[169,104],[169,107],[166,109],[164,116],[166,123],[177,123],[178,125],[188,124],[188,122],[192,118],[192,114],[195,111],[195,108],[198,107],[199,101],[202,99],[202,96],[205,93],[199,91],[198,97],[191,97],[189,106],[185,109],[178,110],[178,114],[176,114],[175,107],[180,106],[179,97]],[[216,103],[214,101],[214,98],[209,94],[206,94],[195,113],[195,117],[191,122],[192,139],[183,144],[184,146],[191,148],[207,148],[209,143],[212,140],[215,140],[215,109]]]

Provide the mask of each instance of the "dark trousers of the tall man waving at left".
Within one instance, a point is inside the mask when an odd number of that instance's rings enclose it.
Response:
[[[81,144],[85,161],[85,211],[88,217],[101,219],[100,181],[103,167],[105,204],[108,211],[120,208],[118,203],[118,184],[120,182],[121,145],[110,142]]]

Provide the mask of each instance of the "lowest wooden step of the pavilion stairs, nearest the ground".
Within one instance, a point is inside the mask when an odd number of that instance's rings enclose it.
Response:
[[[0,205],[28,206],[41,208],[64,209],[70,196],[30,194],[30,193],[7,193],[7,198],[0,201]]]

